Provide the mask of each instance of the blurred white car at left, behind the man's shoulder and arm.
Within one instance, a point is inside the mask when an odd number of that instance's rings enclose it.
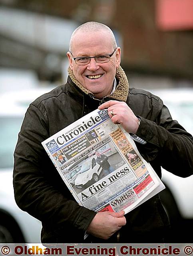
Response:
[[[0,243],[40,242],[41,223],[14,200],[13,153],[27,107],[51,88],[0,94]]]

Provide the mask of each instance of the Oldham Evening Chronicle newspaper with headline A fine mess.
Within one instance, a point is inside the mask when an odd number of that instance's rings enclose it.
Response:
[[[96,212],[127,213],[165,188],[107,110],[94,110],[42,145],[78,204]]]

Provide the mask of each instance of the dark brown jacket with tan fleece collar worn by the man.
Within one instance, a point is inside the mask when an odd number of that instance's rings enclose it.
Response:
[[[103,100],[81,87],[70,73],[58,86],[30,104],[14,153],[14,192],[18,206],[42,222],[43,243],[163,242],[169,222],[159,195],[126,214],[127,224],[109,240],[84,234],[96,212],[79,206],[52,164],[41,142],[95,110],[101,102],[123,100],[141,118],[136,142],[142,156],[161,178],[161,166],[181,177],[193,174],[193,138],[157,96],[128,88],[124,72],[117,70],[115,92]],[[129,89],[129,90],[128,90]]]

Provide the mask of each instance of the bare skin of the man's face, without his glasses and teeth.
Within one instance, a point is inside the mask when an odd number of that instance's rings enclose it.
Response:
[[[111,54],[114,48],[111,36],[106,32],[77,32],[72,44],[73,57],[93,57]],[[90,90],[96,98],[103,98],[111,93],[116,68],[120,65],[120,48],[114,52],[109,62],[97,63],[94,58],[89,64],[78,65],[72,59],[70,52],[67,53],[71,70],[76,79]],[[98,78],[93,76],[98,75]],[[90,77],[92,76],[92,77]]]

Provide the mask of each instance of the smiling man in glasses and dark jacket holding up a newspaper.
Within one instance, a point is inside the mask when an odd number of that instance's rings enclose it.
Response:
[[[16,203],[42,222],[42,243],[167,241],[169,220],[159,194],[127,214],[89,210],[76,202],[41,142],[93,110],[107,109],[161,178],[161,166],[177,176],[193,174],[193,137],[159,97],[129,87],[121,48],[108,26],[87,22],[76,28],[67,56],[66,84],[26,112],[14,152]]]

